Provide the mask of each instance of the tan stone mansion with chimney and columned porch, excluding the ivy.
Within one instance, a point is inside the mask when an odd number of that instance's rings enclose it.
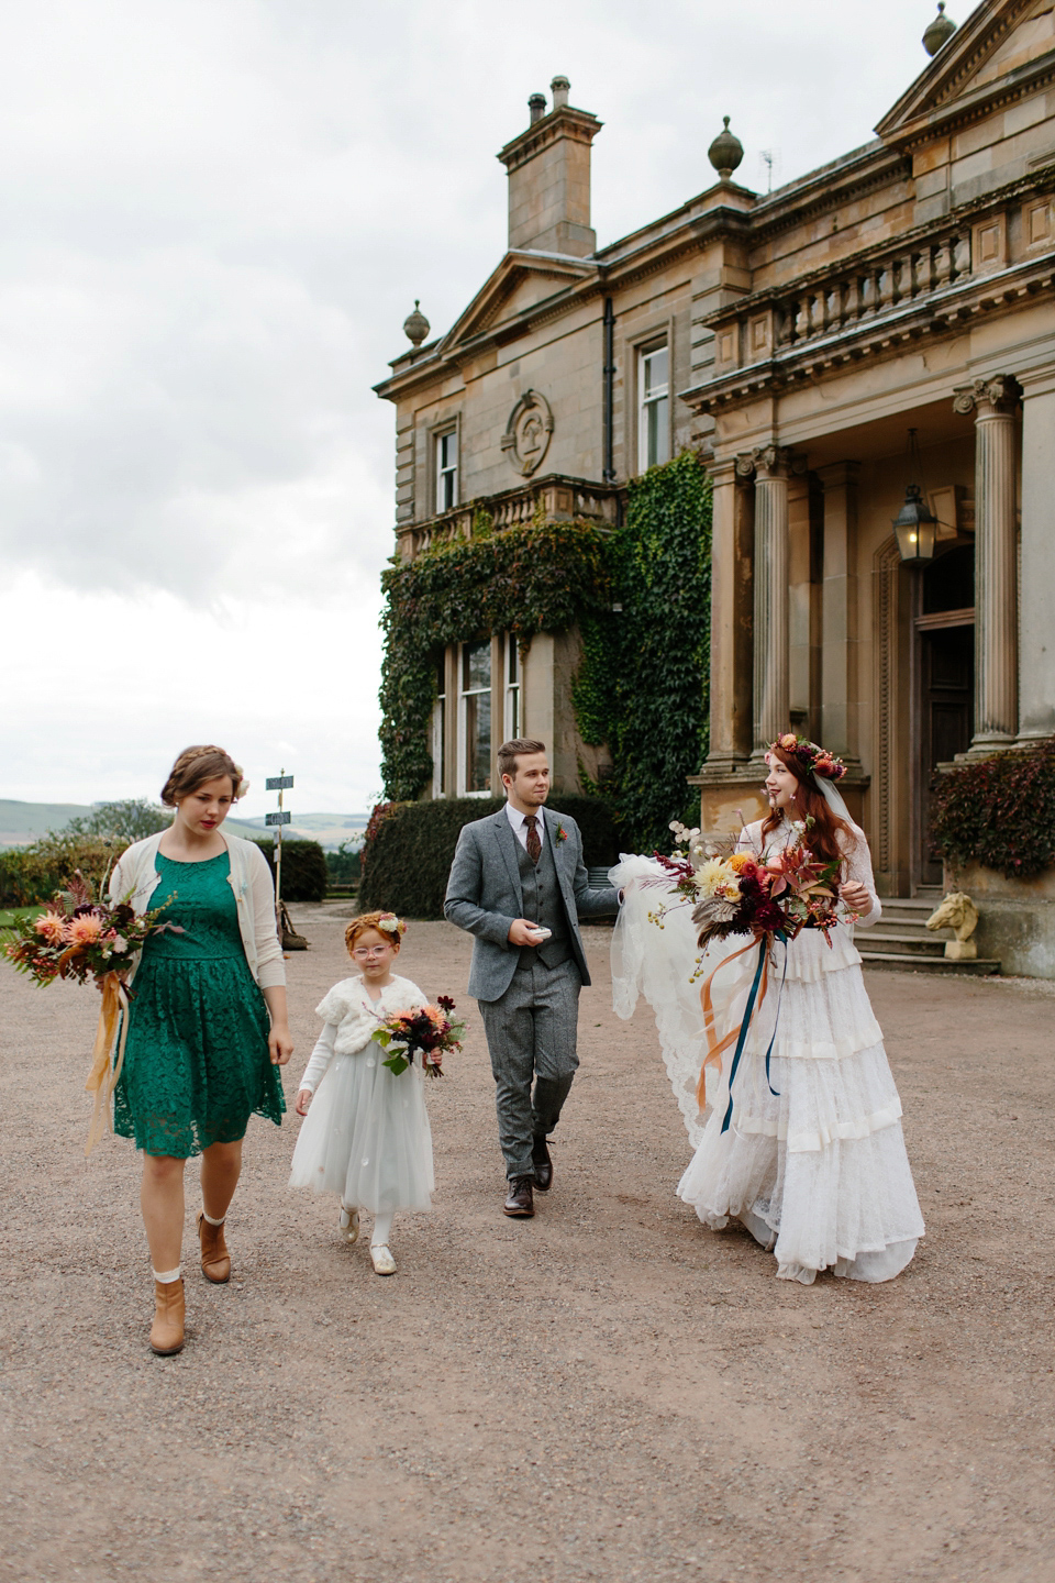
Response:
[[[699,450],[705,823],[756,806],[792,722],[851,766],[892,896],[940,879],[933,768],[1055,733],[1055,5],[984,0],[925,43],[864,147],[758,195],[726,128],[705,192],[603,247],[601,122],[554,78],[498,155],[505,258],[441,337],[416,310],[376,386],[405,559],[481,507],[498,529],[614,522],[630,476]],[[574,632],[527,657],[503,633],[451,646],[432,793],[490,792],[498,742],[524,733],[574,790],[596,763],[576,666]]]

